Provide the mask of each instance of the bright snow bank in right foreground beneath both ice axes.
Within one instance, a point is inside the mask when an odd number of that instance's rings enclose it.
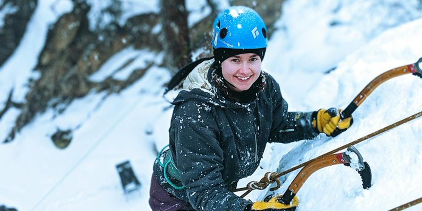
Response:
[[[345,108],[379,74],[416,62],[422,57],[421,27],[422,19],[418,19],[388,30],[355,51],[301,98],[303,105],[309,108]],[[273,164],[272,168],[279,172],[287,170],[422,111],[420,90],[422,78],[410,74],[381,84],[354,112],[353,126],[340,136],[326,138],[322,135],[315,140],[295,143],[295,149],[281,160],[277,152],[284,146],[273,144],[273,156],[269,161]],[[422,119],[419,118],[357,144],[371,166],[373,186],[363,190],[359,175],[349,168],[325,168],[312,175],[298,193],[302,202],[300,210],[388,210],[421,197],[421,139]],[[287,176],[281,193],[297,173]],[[265,194],[269,193],[261,193],[259,197]],[[415,206],[414,210],[420,210],[421,206]]]

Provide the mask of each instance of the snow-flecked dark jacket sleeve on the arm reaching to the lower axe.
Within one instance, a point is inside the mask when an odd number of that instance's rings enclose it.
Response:
[[[222,179],[224,152],[210,109],[188,101],[176,106],[173,112],[170,133],[175,137],[175,161],[181,182],[189,203],[198,211],[243,211],[252,202],[228,191]]]

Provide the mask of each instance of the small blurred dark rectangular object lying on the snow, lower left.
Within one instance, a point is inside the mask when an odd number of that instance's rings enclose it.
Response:
[[[135,173],[133,173],[129,160],[117,164],[116,168],[119,172],[120,181],[122,181],[124,194],[133,192],[141,187],[141,183],[139,183]]]

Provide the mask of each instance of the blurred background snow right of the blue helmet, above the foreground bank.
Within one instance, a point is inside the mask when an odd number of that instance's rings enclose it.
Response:
[[[294,100],[295,95],[314,89],[324,72],[381,32],[422,17],[418,0],[289,0],[282,14],[263,65],[299,110],[314,109]]]

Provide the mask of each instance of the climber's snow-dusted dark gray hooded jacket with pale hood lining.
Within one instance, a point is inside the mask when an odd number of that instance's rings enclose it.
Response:
[[[216,82],[213,60],[202,62],[184,81],[173,101],[170,151],[186,186],[176,197],[196,210],[243,211],[252,203],[229,189],[258,167],[267,142],[289,143],[314,138],[312,112],[288,112],[279,84],[262,72],[262,89],[248,103],[228,100]],[[157,163],[154,173],[162,178]]]

